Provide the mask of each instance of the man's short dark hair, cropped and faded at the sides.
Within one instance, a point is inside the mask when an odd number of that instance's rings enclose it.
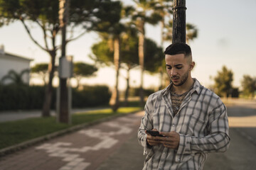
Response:
[[[178,54],[184,54],[185,57],[188,57],[189,55],[192,55],[191,47],[183,42],[175,42],[168,47],[166,47],[166,50],[164,51],[165,55],[178,55]]]

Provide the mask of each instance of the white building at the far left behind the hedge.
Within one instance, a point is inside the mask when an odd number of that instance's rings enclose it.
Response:
[[[0,81],[8,74],[10,70],[14,70],[16,73],[20,74],[25,69],[30,69],[30,62],[32,60],[26,57],[21,57],[18,55],[12,55],[10,53],[4,52],[4,45],[0,46]],[[23,82],[29,84],[29,73],[23,74]],[[2,84],[9,84],[10,79],[1,81]]]

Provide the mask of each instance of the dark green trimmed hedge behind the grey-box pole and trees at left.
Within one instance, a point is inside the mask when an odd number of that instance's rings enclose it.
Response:
[[[82,91],[72,90],[73,108],[104,106],[110,101],[107,86],[85,86]],[[0,111],[41,109],[45,95],[44,86],[0,85]],[[56,89],[53,88],[51,108],[55,109]]]

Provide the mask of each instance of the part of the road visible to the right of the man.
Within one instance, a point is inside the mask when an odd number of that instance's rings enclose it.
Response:
[[[235,102],[227,107],[230,148],[224,154],[210,154],[205,169],[256,169],[256,102]]]

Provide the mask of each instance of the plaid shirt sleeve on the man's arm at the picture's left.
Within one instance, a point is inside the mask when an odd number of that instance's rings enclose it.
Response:
[[[144,107],[144,117],[142,118],[141,125],[139,126],[138,130],[138,140],[139,145],[142,145],[144,147],[144,153],[147,154],[147,148],[150,148],[149,145],[146,143],[146,132],[145,130],[151,130],[153,129],[153,120],[152,120],[152,113],[153,113],[153,105],[151,104],[151,96],[149,96],[148,100],[146,101],[146,105]]]

